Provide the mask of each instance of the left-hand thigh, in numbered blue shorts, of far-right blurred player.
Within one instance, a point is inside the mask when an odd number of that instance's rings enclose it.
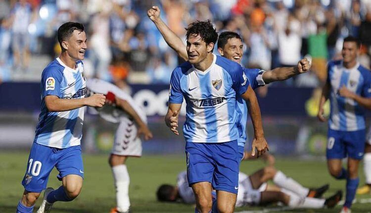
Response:
[[[345,133],[328,129],[327,145],[326,145],[326,158],[330,159],[343,159],[346,157],[346,147],[343,141]]]

